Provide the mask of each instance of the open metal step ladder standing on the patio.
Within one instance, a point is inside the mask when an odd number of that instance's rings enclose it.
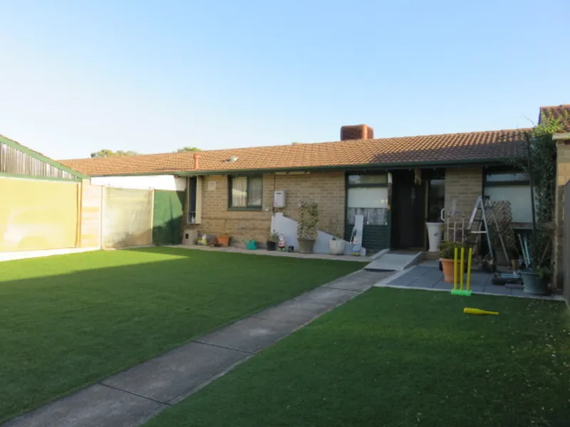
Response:
[[[489,247],[489,257],[495,260],[495,254],[493,252],[493,245],[491,243],[491,236],[489,233],[489,222],[495,226],[497,236],[499,237],[499,242],[501,243],[501,248],[504,253],[504,258],[508,261],[509,255],[507,255],[507,248],[504,246],[504,240],[501,235],[501,229],[499,228],[499,223],[497,222],[497,215],[494,211],[493,202],[489,196],[479,196],[477,201],[475,201],[475,206],[469,220],[469,233],[470,233],[470,244],[473,247],[473,253],[477,253],[477,248],[481,242],[481,236],[487,236],[487,246]]]

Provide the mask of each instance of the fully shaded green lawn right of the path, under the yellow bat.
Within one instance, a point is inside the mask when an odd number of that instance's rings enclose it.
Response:
[[[463,307],[498,310],[470,316]],[[569,426],[561,302],[373,288],[146,427]]]

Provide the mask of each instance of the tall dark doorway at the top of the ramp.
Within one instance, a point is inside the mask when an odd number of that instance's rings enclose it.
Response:
[[[425,247],[425,181],[415,184],[413,171],[392,174],[392,246]]]

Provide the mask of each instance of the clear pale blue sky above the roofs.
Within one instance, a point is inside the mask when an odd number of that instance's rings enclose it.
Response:
[[[527,127],[568,0],[0,0],[0,134],[50,157]]]

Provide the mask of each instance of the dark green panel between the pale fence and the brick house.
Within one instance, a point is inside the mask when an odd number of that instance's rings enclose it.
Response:
[[[152,243],[155,245],[180,244],[185,199],[185,191],[155,190]]]

